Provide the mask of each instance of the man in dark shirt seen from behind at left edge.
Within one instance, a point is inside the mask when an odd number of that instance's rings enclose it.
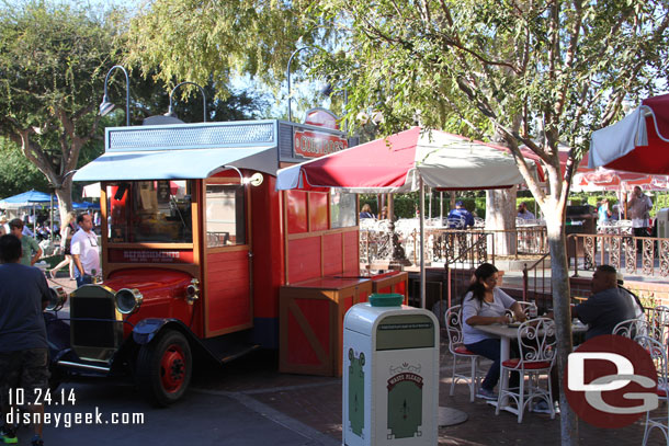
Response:
[[[21,221],[21,220],[19,220]],[[27,405],[38,414],[33,424],[32,445],[41,446],[44,407],[35,397],[48,388],[46,325],[42,312],[49,300],[46,278],[35,267],[21,264],[21,240],[13,235],[0,237],[0,407],[4,425],[0,438],[18,443],[5,414],[13,410],[9,397],[21,389]]]

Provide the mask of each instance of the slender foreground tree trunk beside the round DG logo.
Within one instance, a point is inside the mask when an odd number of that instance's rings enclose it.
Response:
[[[553,284],[553,311],[557,330],[557,369],[559,387],[567,368],[567,357],[571,353],[571,313],[569,310],[569,270],[567,264],[566,236],[564,231],[565,207],[556,206],[552,211],[544,213],[548,247],[551,249],[551,281]],[[578,445],[578,420],[569,408],[565,391],[560,391],[560,437],[562,445]]]

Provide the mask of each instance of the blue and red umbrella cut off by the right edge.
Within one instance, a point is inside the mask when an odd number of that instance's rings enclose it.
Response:
[[[590,140],[591,168],[669,174],[669,94],[648,98]]]

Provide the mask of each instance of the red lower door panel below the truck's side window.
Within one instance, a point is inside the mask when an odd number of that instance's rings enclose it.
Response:
[[[207,254],[205,299],[207,334],[251,325],[248,251]]]

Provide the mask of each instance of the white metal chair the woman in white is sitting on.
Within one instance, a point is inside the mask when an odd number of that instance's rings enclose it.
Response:
[[[469,387],[469,401],[474,402],[476,396],[476,389],[478,387],[480,376],[478,371],[478,358],[476,353],[469,352],[465,347],[463,332],[462,332],[462,306],[456,305],[446,310],[444,317],[446,323],[446,332],[449,334],[449,351],[453,355],[453,373],[451,374],[451,392],[455,389],[455,382],[460,379],[467,382]],[[467,375],[457,373],[458,359],[465,359],[469,362],[469,373]]]

